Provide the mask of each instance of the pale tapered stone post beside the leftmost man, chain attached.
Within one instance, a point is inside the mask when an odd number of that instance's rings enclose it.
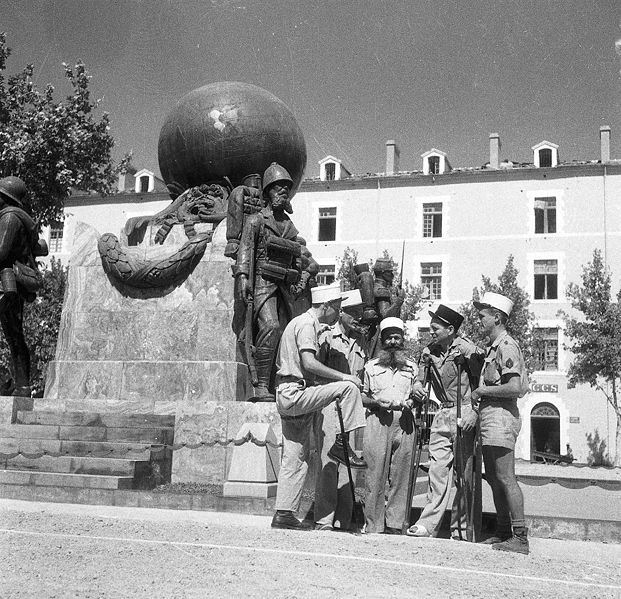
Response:
[[[274,497],[280,470],[280,452],[276,445],[276,435],[271,425],[245,423],[233,445],[224,496]]]

